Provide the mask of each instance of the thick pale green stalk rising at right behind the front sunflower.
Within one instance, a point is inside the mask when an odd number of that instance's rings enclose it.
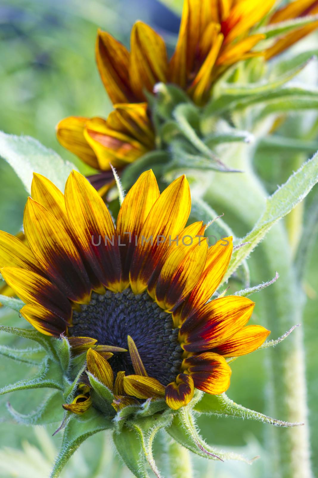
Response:
[[[214,173],[207,183],[205,200],[225,217],[235,217],[247,233],[263,212],[267,196],[263,185],[252,170],[253,149],[241,144],[229,148],[224,162],[243,174]],[[235,231],[236,232],[236,231]],[[301,323],[304,296],[297,284],[287,231],[282,222],[275,225],[252,254],[250,263],[256,270],[256,282],[272,277],[277,270],[279,280],[257,296],[258,314],[262,325],[272,337],[281,336],[291,326]],[[268,413],[290,422],[304,422],[291,429],[270,429],[272,472],[276,478],[312,477],[309,459],[309,432],[305,359],[301,327],[288,340],[267,352]]]

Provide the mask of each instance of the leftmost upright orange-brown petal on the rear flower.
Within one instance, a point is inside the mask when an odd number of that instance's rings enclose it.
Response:
[[[129,82],[129,52],[112,35],[101,30],[98,30],[96,39],[96,62],[112,102],[133,102]]]

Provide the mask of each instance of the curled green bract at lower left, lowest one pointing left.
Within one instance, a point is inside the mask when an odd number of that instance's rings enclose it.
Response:
[[[23,415],[14,410],[10,403],[8,403],[8,410],[13,418],[20,424],[45,425],[61,421],[63,416],[62,403],[62,393],[60,391],[54,391],[34,412],[28,413],[27,415]]]

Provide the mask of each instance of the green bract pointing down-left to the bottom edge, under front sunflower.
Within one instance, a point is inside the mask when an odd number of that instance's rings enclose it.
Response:
[[[81,416],[73,413],[65,425],[61,451],[55,460],[50,478],[60,476],[69,458],[86,438],[111,427],[110,420],[92,407]]]

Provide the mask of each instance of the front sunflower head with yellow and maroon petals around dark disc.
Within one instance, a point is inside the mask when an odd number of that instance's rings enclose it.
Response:
[[[152,171],[143,173],[116,226],[75,171],[65,195],[40,174],[31,194],[23,219],[27,243],[0,233],[0,272],[25,303],[21,315],[43,334],[66,334],[73,354],[86,353],[87,373],[113,390],[116,409],[154,397],[178,409],[195,388],[224,392],[231,375],[226,357],[252,352],[269,331],[246,326],[254,307],[246,297],[209,302],[230,261],[232,238],[208,247],[202,222],[186,226],[185,176],[160,194]],[[83,380],[65,406],[83,413],[91,402]]]

